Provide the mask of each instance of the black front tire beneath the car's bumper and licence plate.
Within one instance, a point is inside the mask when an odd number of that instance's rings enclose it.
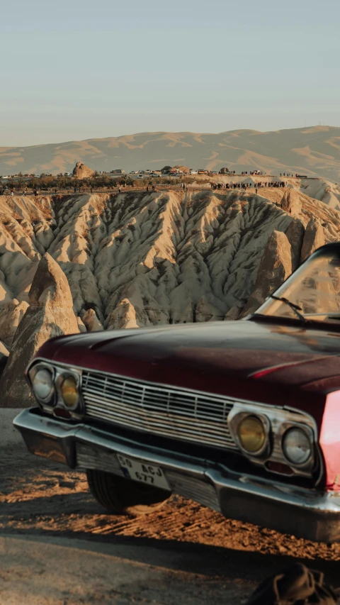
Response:
[[[101,470],[86,470],[96,501],[116,515],[145,515],[161,509],[171,495],[165,489],[118,477]]]

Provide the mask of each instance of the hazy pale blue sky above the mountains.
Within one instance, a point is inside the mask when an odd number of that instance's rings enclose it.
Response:
[[[340,126],[339,0],[12,0],[0,146]]]

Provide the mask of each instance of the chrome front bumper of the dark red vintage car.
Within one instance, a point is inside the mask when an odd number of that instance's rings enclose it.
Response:
[[[179,455],[85,424],[42,416],[37,408],[14,420],[31,453],[72,469],[97,469],[123,476],[116,453],[162,467],[171,490],[228,518],[318,542],[340,541],[340,494],[271,484],[215,462]]]

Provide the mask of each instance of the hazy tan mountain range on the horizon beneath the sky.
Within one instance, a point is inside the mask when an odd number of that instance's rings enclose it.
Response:
[[[71,172],[76,162],[93,170],[145,170],[186,165],[268,174],[298,172],[340,181],[340,128],[312,126],[261,133],[138,133],[30,147],[0,147],[0,174]]]

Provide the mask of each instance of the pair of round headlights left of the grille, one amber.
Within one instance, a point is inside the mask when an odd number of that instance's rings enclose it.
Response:
[[[81,373],[77,370],[36,362],[28,368],[28,382],[42,409],[52,412],[65,409],[70,417],[82,415]]]

